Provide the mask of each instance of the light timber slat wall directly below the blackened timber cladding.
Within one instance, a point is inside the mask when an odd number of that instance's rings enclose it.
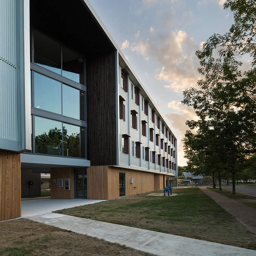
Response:
[[[108,166],[91,166],[87,167],[86,170],[87,199],[109,199]]]

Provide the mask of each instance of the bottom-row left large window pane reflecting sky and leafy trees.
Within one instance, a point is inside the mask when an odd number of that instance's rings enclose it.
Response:
[[[35,153],[62,155],[62,124],[35,116]]]

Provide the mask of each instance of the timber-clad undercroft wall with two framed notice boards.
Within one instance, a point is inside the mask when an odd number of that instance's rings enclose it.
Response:
[[[70,190],[64,190],[64,179],[70,179]],[[56,179],[63,179],[63,187],[58,187]],[[52,199],[74,199],[74,168],[52,168],[51,169],[51,198]]]

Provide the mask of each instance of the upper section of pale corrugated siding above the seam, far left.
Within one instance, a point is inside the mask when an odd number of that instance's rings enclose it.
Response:
[[[16,67],[16,0],[0,1],[0,20],[0,57]]]

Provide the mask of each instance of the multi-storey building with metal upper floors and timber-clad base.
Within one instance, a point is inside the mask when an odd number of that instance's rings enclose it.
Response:
[[[0,220],[20,216],[33,173],[69,199],[177,176],[176,137],[87,0],[0,4]]]

